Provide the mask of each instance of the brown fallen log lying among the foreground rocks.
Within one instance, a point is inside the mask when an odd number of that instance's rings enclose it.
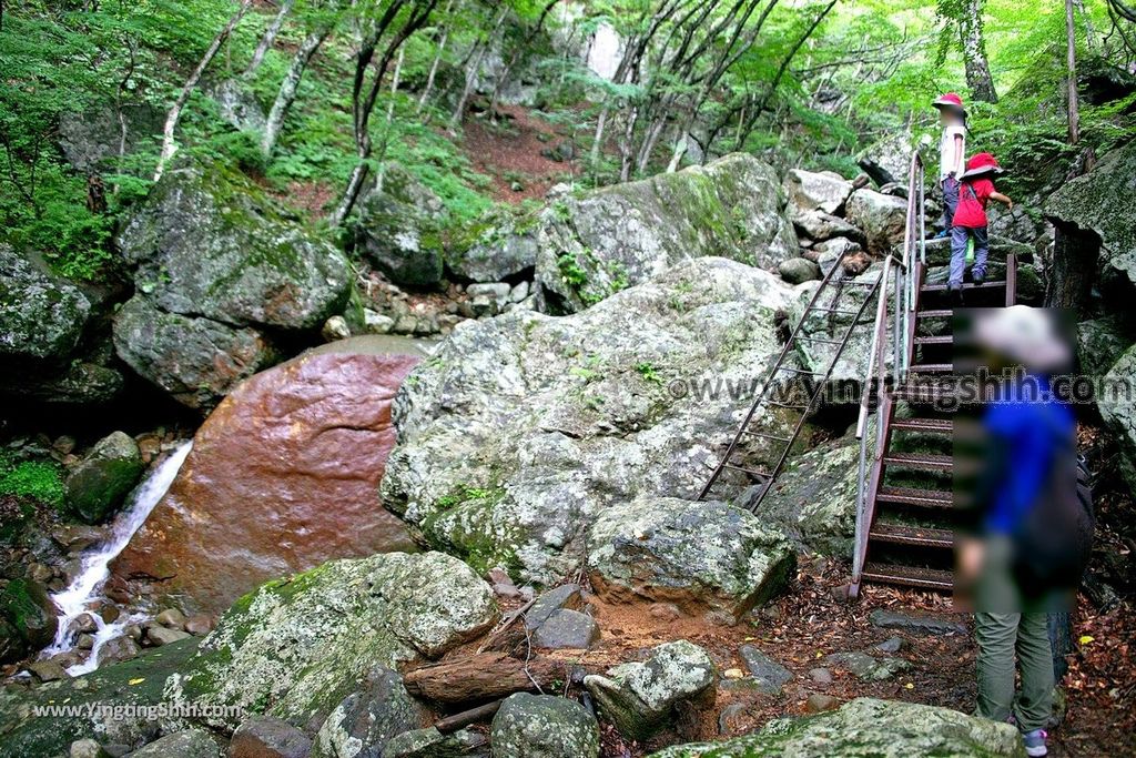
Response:
[[[521,660],[503,652],[483,652],[416,668],[403,676],[407,692],[437,702],[470,702],[532,692],[566,676],[563,664]]]

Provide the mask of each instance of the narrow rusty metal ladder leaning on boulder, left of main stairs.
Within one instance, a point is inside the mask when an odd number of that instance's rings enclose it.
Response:
[[[857,327],[864,324],[864,314],[868,313],[868,306],[872,300],[872,295],[880,291],[882,282],[887,282],[886,267],[884,275],[875,280],[861,280],[851,276],[844,266],[849,255],[849,251],[840,255],[832,265],[832,268],[828,269],[828,273],[825,274],[816,292],[813,292],[809,305],[805,306],[801,318],[793,327],[793,332],[782,348],[780,355],[777,356],[772,367],[766,375],[761,384],[761,391],[750,406],[750,410],[738,426],[737,433],[715,467],[705,486],[702,488],[702,492],[698,497],[699,500],[705,500],[709,497],[711,490],[725,472],[736,472],[758,485],[757,495],[750,505],[750,510],[757,511],[758,506],[761,505],[761,500],[765,499],[766,493],[769,491],[769,485],[777,478],[782,468],[784,468],[793,443],[800,436],[809,415],[817,408],[817,401],[826,383],[832,377],[833,369],[840,361],[841,356],[844,355],[844,349],[847,347],[849,340],[855,333]],[[846,303],[851,298],[847,295],[855,289],[861,289],[860,294],[863,297],[858,305],[853,303],[849,306]],[[884,288],[884,290],[886,289]],[[810,323],[810,318],[815,318],[818,315],[821,317],[827,316],[833,322],[829,330],[832,336],[818,336],[809,333],[807,325]],[[836,324],[835,322],[840,317],[851,317],[851,322]],[[830,347],[832,352],[828,361],[825,364],[824,370],[811,370],[799,365],[796,349],[802,343]],[[763,431],[767,415],[759,411],[769,408],[797,411],[800,414],[788,434],[771,434]],[[752,468],[744,466],[737,460],[742,453],[742,445],[749,439],[768,441],[775,445],[774,455],[770,457],[770,460],[775,461],[772,466],[767,469]]]

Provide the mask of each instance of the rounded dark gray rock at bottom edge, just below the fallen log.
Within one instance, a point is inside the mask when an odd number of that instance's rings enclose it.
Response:
[[[491,727],[493,758],[598,758],[600,727],[578,702],[518,692]]]

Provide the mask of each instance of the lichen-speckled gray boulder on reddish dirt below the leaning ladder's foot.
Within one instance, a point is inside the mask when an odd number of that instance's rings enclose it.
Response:
[[[794,566],[785,536],[724,502],[641,498],[603,510],[588,531],[598,593],[694,607],[740,617],[784,586]]]

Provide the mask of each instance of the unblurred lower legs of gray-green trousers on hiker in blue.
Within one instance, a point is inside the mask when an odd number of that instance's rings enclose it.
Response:
[[[1053,711],[1053,652],[1046,614],[975,614],[978,638],[978,715],[1018,728],[1044,728]],[[1021,697],[1013,707],[1014,651],[1021,669]]]

